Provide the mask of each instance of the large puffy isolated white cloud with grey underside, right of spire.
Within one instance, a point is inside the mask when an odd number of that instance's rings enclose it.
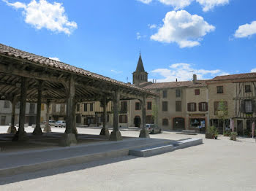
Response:
[[[190,15],[185,10],[167,12],[163,22],[164,25],[151,39],[166,43],[176,42],[181,48],[200,45],[202,37],[215,30],[203,17]]]

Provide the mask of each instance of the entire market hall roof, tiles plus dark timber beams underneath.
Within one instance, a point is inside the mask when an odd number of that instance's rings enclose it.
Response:
[[[157,96],[150,90],[0,44],[0,99],[18,96],[21,77],[27,77],[29,78],[27,101],[37,100],[38,80],[42,80],[44,82],[42,102],[52,100],[64,103],[66,101],[64,85],[70,75],[75,77],[77,101],[99,101],[103,95],[111,100],[115,90],[120,91],[121,99],[138,98],[143,95]]]

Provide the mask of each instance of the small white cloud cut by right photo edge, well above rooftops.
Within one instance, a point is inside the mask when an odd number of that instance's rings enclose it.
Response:
[[[256,20],[252,21],[251,24],[239,26],[234,36],[236,38],[244,38],[247,36],[252,36],[253,34],[256,34]]]

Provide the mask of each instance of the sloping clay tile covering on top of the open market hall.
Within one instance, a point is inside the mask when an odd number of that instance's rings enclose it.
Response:
[[[14,58],[20,58],[20,59],[30,61],[32,63],[36,63],[36,64],[39,64],[39,65],[42,65],[42,66],[47,66],[47,67],[50,67],[50,68],[53,68],[53,69],[59,69],[61,71],[67,71],[67,72],[83,75],[83,76],[86,76],[86,77],[91,77],[91,78],[94,78],[94,79],[99,79],[99,80],[102,80],[102,81],[105,81],[105,82],[111,82],[111,83],[113,83],[113,85],[132,88],[134,90],[139,90],[140,92],[149,93],[151,95],[154,95],[154,93],[151,93],[150,91],[145,90],[143,88],[136,87],[135,85],[129,85],[129,84],[124,83],[124,82],[119,82],[115,79],[111,79],[109,77],[104,77],[102,75],[92,73],[91,71],[86,71],[84,69],[80,69],[78,67],[71,66],[67,63],[63,63],[63,62],[60,62],[60,61],[55,61],[55,60],[52,60],[50,58],[45,58],[45,57],[42,57],[42,56],[39,56],[39,55],[34,55],[32,53],[25,52],[23,50],[18,50],[18,49],[15,49],[13,47],[9,47],[9,46],[1,44],[1,43],[0,43],[0,55],[7,55],[7,56],[10,56],[10,57],[14,57]]]

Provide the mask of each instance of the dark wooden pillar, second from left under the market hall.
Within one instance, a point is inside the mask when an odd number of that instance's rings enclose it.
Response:
[[[28,80],[25,77],[21,78],[20,86],[20,116],[19,116],[19,128],[12,141],[26,141],[28,136],[24,128],[26,117],[26,90]]]

